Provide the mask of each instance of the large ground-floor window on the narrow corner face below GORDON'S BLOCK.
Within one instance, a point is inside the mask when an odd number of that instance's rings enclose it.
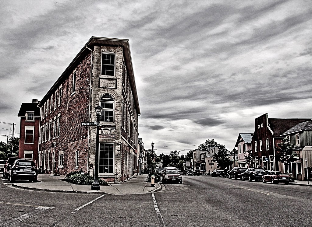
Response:
[[[99,173],[114,173],[114,144],[100,144]]]

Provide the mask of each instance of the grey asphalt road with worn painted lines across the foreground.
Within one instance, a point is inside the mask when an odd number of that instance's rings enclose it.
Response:
[[[164,187],[101,196],[0,185],[0,226],[312,226],[312,187],[207,176]]]

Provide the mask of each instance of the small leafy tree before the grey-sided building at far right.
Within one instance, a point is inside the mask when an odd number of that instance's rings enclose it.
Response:
[[[281,163],[289,165],[290,163],[297,160],[297,158],[295,158],[297,156],[297,153],[294,151],[294,147],[294,144],[290,144],[289,138],[282,139],[282,142],[277,144],[277,147],[275,147],[275,157],[277,158],[277,160],[280,160]]]

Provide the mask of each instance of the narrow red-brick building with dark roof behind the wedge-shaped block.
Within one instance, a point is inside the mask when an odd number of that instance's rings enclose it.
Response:
[[[18,115],[21,118],[18,157],[33,160],[39,167],[38,140],[40,125],[40,108],[38,100],[22,103]]]

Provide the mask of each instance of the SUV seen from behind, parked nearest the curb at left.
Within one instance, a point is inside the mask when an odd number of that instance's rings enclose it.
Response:
[[[14,183],[15,180],[29,180],[32,182],[37,182],[38,170],[36,164],[32,160],[17,159],[10,171],[9,180]]]

